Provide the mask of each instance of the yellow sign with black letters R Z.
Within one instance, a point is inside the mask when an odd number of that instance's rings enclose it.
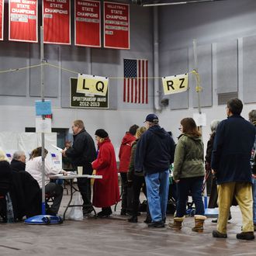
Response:
[[[185,92],[188,90],[188,74],[177,74],[162,78],[164,95]]]

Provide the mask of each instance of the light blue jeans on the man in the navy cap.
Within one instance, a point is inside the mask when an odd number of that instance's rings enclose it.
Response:
[[[152,222],[165,220],[169,190],[169,170],[145,175],[147,202]]]

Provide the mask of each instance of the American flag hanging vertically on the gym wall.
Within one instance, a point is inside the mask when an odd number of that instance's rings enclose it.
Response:
[[[147,60],[123,59],[123,102],[148,103]]]

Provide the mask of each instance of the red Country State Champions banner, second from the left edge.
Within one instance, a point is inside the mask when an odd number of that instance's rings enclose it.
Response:
[[[9,40],[37,43],[37,0],[9,0]]]

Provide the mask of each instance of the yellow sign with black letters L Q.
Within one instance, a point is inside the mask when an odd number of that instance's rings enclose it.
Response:
[[[77,92],[106,96],[109,78],[89,74],[78,74]]]

